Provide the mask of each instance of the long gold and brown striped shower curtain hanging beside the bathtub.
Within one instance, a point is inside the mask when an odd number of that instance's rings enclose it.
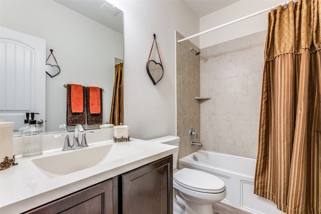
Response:
[[[268,15],[254,193],[321,213],[321,0]]]

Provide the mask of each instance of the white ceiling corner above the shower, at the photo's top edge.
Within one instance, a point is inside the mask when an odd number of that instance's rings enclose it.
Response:
[[[184,0],[188,7],[198,17],[204,17],[240,0]]]

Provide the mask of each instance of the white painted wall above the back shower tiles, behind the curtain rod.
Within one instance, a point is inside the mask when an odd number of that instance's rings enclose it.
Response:
[[[200,32],[231,22],[238,18],[284,3],[279,0],[241,0],[231,6],[200,18]],[[200,36],[200,48],[223,43],[267,29],[267,14],[240,21]]]

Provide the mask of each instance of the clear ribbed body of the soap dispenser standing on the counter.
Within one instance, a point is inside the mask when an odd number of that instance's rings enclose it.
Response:
[[[36,156],[42,154],[42,131],[37,127],[36,120],[29,120],[29,127],[22,132],[22,156]]]

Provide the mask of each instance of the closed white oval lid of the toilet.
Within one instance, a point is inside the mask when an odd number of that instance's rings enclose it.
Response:
[[[191,190],[207,193],[220,193],[225,183],[213,174],[190,168],[183,168],[174,174],[174,181]]]

